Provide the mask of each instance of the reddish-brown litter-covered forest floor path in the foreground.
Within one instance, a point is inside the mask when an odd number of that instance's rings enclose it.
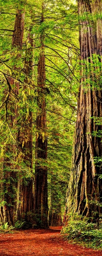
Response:
[[[0,255],[2,256],[102,256],[80,245],[64,241],[61,227],[50,229],[21,230],[0,234]]]

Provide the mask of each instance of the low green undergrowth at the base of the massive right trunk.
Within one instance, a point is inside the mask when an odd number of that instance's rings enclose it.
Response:
[[[94,249],[102,249],[102,222],[92,223],[90,218],[82,216],[70,217],[63,235],[72,243],[85,245]]]

